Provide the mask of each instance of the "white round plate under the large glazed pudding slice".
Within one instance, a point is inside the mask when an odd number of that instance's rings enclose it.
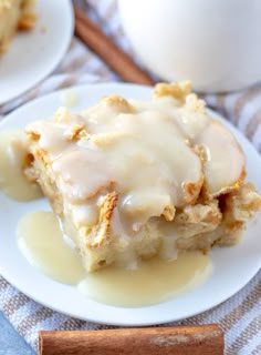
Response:
[[[122,94],[127,98],[146,99],[150,89],[133,84],[92,84],[73,89],[77,95],[74,111],[95,104],[103,95]],[[64,103],[61,92],[34,100],[10,114],[0,125],[0,131],[22,129],[27,123],[51,116]],[[217,114],[212,113],[217,116]],[[218,116],[217,116],[218,118]],[[261,192],[261,160],[252,145],[234,128],[222,121],[242,145],[248,164],[248,179]],[[139,308],[108,306],[92,301],[76,287],[63,285],[33,268],[19,251],[15,236],[18,221],[28,212],[49,210],[45,200],[18,203],[0,194],[0,273],[15,287],[33,300],[59,312],[98,323],[115,325],[150,325],[180,318],[209,310],[232,296],[243,287],[261,266],[260,215],[248,225],[243,240],[233,247],[211,251],[213,273],[197,290],[168,302]]]

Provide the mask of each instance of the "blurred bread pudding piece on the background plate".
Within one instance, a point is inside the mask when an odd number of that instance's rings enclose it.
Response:
[[[0,53],[17,30],[31,30],[35,23],[35,0],[0,0]]]

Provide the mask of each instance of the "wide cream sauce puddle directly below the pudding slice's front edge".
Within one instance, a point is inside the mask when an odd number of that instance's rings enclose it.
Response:
[[[90,274],[79,288],[101,303],[139,307],[157,304],[200,286],[212,270],[208,255],[191,251],[177,260],[154,257],[137,270],[109,266]]]

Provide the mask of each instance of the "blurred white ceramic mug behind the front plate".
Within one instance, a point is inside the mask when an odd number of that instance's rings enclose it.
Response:
[[[261,0],[118,0],[135,52],[161,79],[203,92],[261,80]]]

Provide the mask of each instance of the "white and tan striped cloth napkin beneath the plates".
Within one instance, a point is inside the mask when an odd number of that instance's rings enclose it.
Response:
[[[88,16],[125,51],[132,52],[121,29],[115,0],[79,0]],[[48,92],[79,83],[119,81],[76,38],[59,68],[33,90],[0,106],[0,119],[22,103]],[[261,153],[261,84],[246,91],[206,95],[208,104],[237,125]],[[102,329],[111,326],[79,321],[30,300],[0,276],[0,308],[36,349],[40,329]],[[237,295],[221,305],[169,325],[219,323],[226,332],[226,354],[261,354],[261,272]],[[113,328],[113,326],[112,326]]]

